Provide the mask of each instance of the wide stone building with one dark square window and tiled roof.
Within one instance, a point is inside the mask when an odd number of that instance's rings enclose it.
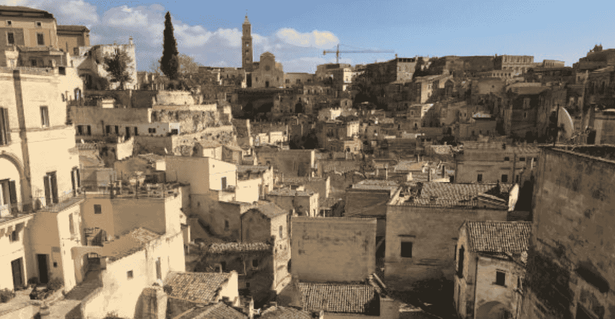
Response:
[[[387,204],[387,285],[408,288],[421,280],[452,280],[459,226],[466,220],[506,221],[517,193],[518,187],[510,184],[431,182],[415,189],[400,187]]]

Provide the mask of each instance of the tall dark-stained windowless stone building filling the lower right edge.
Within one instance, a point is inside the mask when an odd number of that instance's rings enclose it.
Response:
[[[612,318],[615,149],[544,147],[520,318]]]

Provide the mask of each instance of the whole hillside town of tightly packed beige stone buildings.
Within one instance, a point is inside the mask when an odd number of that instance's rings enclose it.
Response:
[[[1,319],[615,318],[615,49],[285,73],[245,15],[142,72],[0,16]]]

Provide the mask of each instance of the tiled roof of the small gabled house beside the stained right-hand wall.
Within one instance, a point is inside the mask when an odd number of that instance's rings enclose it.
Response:
[[[466,221],[469,246],[474,251],[522,253],[528,250],[532,224],[527,221]]]

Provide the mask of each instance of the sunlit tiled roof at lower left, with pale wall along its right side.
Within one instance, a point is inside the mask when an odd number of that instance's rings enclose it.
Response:
[[[169,297],[209,304],[215,302],[221,286],[231,274],[218,272],[171,272],[165,285],[173,288]]]

